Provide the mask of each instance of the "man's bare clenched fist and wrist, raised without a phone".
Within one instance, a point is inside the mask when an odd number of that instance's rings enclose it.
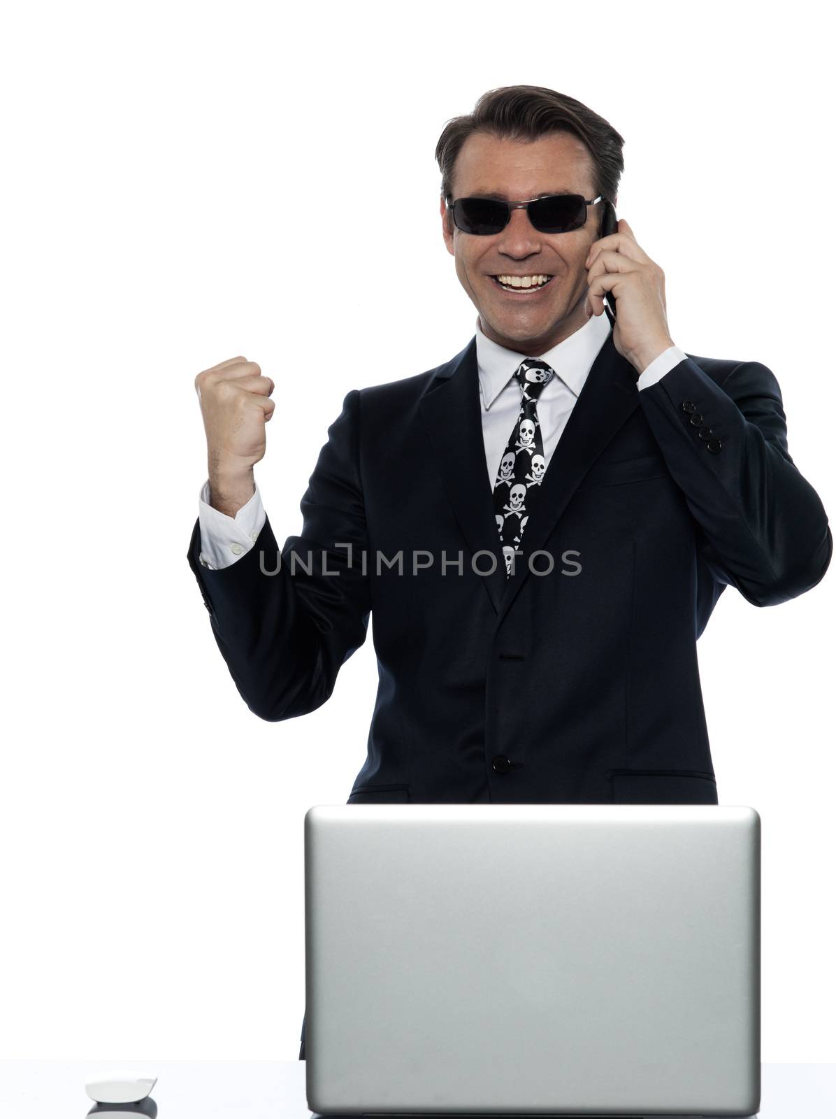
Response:
[[[253,467],[267,445],[275,385],[255,361],[231,357],[194,378],[206,429],[211,505],[234,517],[255,492]]]

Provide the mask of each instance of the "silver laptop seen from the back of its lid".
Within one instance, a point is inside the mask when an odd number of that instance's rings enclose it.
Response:
[[[718,805],[317,805],[320,1115],[752,1116],[760,817]]]

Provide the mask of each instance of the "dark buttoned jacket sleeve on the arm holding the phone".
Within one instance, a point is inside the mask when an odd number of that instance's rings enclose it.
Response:
[[[686,357],[639,402],[700,526],[712,576],[757,606],[815,586],[830,563],[833,535],[790,458],[775,375],[741,361],[718,385]]]

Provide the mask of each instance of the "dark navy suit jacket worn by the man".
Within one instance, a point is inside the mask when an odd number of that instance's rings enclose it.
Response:
[[[379,688],[350,802],[718,802],[696,640],[726,585],[768,606],[818,583],[833,536],[766,366],[688,355],[640,393],[636,377],[610,332],[511,580],[475,337],[348,393],[281,558],[267,519],[206,568],[196,521],[189,563],[262,718],[323,704],[371,615]]]

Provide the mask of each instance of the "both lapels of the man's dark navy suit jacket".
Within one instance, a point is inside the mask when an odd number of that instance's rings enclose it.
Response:
[[[481,577],[497,613],[507,610],[531,574],[528,557],[543,547],[583,476],[637,405],[636,372],[616,349],[610,331],[549,461],[525,525],[523,554],[517,556],[514,576],[507,580],[485,460],[475,335],[439,368],[433,387],[421,397],[420,411],[447,497],[471,553],[487,552],[495,557],[493,573]],[[553,558],[554,568],[559,570],[560,557]],[[544,563],[543,558],[541,564]],[[479,555],[477,570],[487,572],[490,566],[488,556]]]

